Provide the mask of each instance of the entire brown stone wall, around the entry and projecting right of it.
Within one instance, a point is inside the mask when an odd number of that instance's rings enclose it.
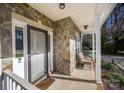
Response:
[[[44,14],[26,4],[0,4],[0,37],[1,58],[12,58],[12,20],[11,13],[15,12],[33,21],[41,21],[42,25],[53,28],[54,64],[58,72],[70,75],[70,39],[75,38],[79,29],[70,17],[52,21]],[[11,59],[6,60],[11,62]],[[4,60],[2,60],[4,63]]]

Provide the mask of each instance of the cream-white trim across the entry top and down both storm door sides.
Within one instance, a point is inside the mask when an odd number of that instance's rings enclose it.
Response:
[[[24,16],[21,16],[21,15],[17,14],[17,13],[14,13],[14,12],[12,12],[12,25],[13,25],[13,21],[16,24],[22,22],[22,24],[24,24],[25,26],[27,26],[27,24],[29,24],[29,25],[32,25],[34,27],[41,28],[43,30],[48,31],[48,33],[51,35],[51,38],[50,38],[50,43],[51,43],[51,45],[50,45],[51,46],[50,47],[51,48],[51,70],[53,71],[54,70],[54,68],[53,68],[53,29],[49,28],[47,26],[42,25],[40,23],[40,21],[38,21],[38,22],[32,21],[31,19],[28,19],[28,18],[26,18]],[[27,30],[27,27],[26,27],[25,30]],[[25,37],[27,38],[27,33],[25,33]],[[26,40],[26,38],[25,38],[25,45],[26,45],[25,47],[27,48],[27,40]],[[13,46],[15,45],[14,43],[12,43],[12,44],[13,44]],[[25,51],[26,51],[26,48],[25,48]],[[13,55],[15,55],[15,54],[13,54]],[[25,76],[26,76],[25,78],[26,78],[26,80],[28,80],[28,55],[27,55],[27,51],[25,52],[25,55],[26,55],[26,59],[25,60],[27,60],[25,62],[25,66],[26,66],[25,67],[25,70],[26,70],[25,71]]]

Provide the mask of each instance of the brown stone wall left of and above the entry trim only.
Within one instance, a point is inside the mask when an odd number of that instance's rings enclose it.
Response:
[[[26,4],[0,4],[1,58],[3,63],[12,61],[12,12],[36,22],[41,21],[42,25],[50,28],[54,27],[54,22],[51,19]]]

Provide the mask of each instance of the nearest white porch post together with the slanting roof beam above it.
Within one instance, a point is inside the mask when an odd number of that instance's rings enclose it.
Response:
[[[116,4],[108,4],[101,14],[95,15],[95,29],[96,32],[96,82],[101,83],[101,26],[106,18],[112,12]],[[98,9],[98,7],[96,7]],[[96,9],[96,10],[97,10]],[[96,11],[97,12],[97,11]]]

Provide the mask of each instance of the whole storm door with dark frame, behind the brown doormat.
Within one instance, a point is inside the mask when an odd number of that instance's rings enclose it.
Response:
[[[28,25],[28,80],[36,82],[48,72],[47,31]]]

